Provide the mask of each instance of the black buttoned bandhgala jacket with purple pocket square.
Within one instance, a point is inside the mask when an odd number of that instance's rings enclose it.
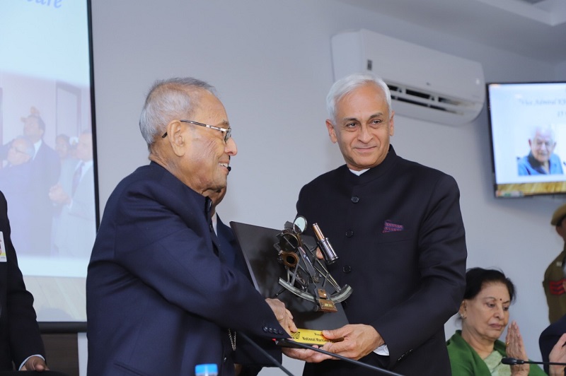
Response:
[[[450,374],[444,323],[461,304],[466,240],[452,177],[398,157],[354,175],[343,165],[301,189],[297,213],[318,223],[340,257],[328,266],[354,292],[350,324],[373,326],[389,357],[362,361],[403,375]],[[309,233],[309,235],[312,235]],[[374,375],[350,363],[306,364],[307,375]]]

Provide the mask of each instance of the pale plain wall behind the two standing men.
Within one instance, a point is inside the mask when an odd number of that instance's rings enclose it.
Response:
[[[137,122],[156,79],[195,76],[216,86],[238,143],[219,213],[226,221],[271,228],[294,218],[303,184],[343,163],[324,126],[335,33],[366,28],[474,59],[488,82],[555,79],[555,67],[541,61],[335,0],[96,0],[92,8],[101,208],[122,177],[147,163]],[[383,53],[395,57],[395,51]],[[468,266],[500,267],[516,283],[512,319],[529,356],[539,359],[538,334],[548,325],[541,281],[562,249],[549,222],[563,199],[494,199],[485,110],[463,127],[401,116],[395,125],[399,155],[458,181]],[[446,324],[448,335],[454,329]],[[299,362],[285,364],[300,374]],[[262,371],[270,374],[279,372]]]

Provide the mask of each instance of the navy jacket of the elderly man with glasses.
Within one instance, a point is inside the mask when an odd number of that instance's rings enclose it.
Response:
[[[219,258],[209,204],[156,163],[112,192],[86,278],[88,375],[192,375],[216,363],[230,376],[228,328],[287,337]]]

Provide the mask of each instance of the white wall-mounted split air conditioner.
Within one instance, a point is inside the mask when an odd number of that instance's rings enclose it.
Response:
[[[397,114],[459,125],[478,116],[485,101],[480,63],[369,30],[332,37],[335,80],[373,72],[391,89]]]

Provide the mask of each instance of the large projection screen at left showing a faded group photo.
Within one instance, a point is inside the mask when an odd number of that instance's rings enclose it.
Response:
[[[0,51],[0,191],[18,264],[38,321],[86,321],[98,223],[88,2],[2,2]]]

